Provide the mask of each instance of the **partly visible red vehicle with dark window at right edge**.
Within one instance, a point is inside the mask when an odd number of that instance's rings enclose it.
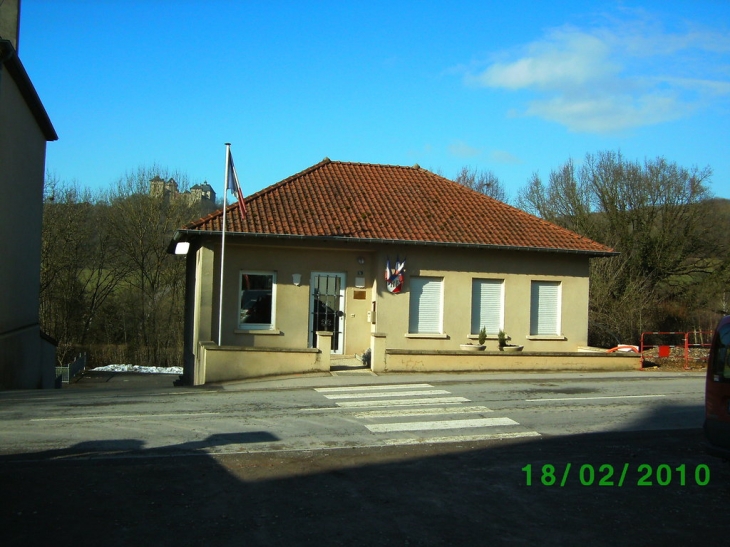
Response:
[[[704,430],[707,452],[730,459],[730,315],[718,323],[707,358]]]

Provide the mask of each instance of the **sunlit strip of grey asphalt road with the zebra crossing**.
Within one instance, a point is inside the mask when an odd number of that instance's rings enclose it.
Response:
[[[247,453],[697,428],[702,389],[696,373],[327,375],[201,388],[102,375],[0,394],[0,453],[109,442]]]

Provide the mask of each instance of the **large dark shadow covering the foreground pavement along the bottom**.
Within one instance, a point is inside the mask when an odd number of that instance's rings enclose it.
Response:
[[[656,408],[672,411],[682,409]],[[3,544],[706,545],[730,536],[730,470],[704,454],[699,429],[206,452],[273,439],[241,432],[154,450],[120,439],[0,457]]]

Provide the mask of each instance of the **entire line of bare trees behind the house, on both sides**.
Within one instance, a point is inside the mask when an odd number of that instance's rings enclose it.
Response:
[[[707,331],[728,313],[730,201],[713,199],[712,171],[620,152],[572,159],[534,174],[516,205],[619,254],[591,260],[589,343],[638,343],[645,331]],[[151,193],[150,180],[183,173],[157,166],[93,194],[48,177],[44,196],[40,317],[60,363],[86,351],[92,366],[179,366],[185,263],[166,252],[200,204]],[[464,167],[454,180],[500,201],[491,171]]]

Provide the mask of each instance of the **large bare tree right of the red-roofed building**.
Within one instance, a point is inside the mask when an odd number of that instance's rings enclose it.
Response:
[[[689,320],[670,308],[688,285],[726,271],[728,245],[708,226],[711,174],[664,158],[642,163],[599,152],[580,168],[568,160],[547,184],[533,175],[518,206],[621,253],[592,265],[591,320],[635,341],[642,329]]]

